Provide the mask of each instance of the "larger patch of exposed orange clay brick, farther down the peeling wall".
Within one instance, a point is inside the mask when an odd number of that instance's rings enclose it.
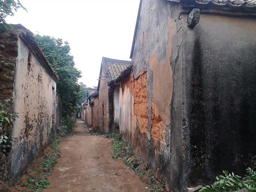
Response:
[[[147,72],[140,71],[137,79],[134,79],[133,74],[129,78],[125,78],[121,83],[122,91],[125,85],[130,89],[134,97],[134,114],[138,119],[140,132],[148,130],[148,91],[147,91]]]

